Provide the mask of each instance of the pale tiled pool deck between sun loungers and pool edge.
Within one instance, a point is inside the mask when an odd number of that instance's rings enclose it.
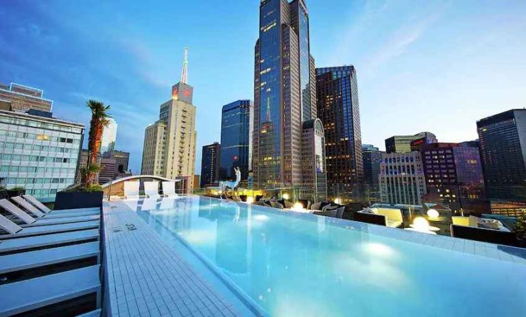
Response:
[[[104,202],[104,246],[108,316],[253,316],[123,202]]]

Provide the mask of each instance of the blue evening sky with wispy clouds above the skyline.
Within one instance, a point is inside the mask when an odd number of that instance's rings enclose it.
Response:
[[[180,79],[202,145],[224,104],[253,99],[258,0],[0,0],[0,82],[44,89],[57,117],[88,126],[88,98],[112,106],[117,148],[140,171],[145,126]],[[357,69],[363,143],[434,132],[477,138],[477,119],[526,106],[526,1],[307,0],[318,67]]]

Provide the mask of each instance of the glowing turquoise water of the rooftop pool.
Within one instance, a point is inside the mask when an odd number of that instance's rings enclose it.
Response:
[[[525,316],[523,263],[385,236],[396,229],[213,198],[131,207],[160,235],[184,240],[263,314]]]

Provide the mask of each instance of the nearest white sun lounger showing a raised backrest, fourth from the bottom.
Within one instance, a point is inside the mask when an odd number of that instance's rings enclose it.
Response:
[[[32,226],[22,228],[18,224],[15,224],[8,218],[1,216],[0,228],[8,231],[8,234],[0,235],[0,240],[11,239],[17,237],[28,237],[32,235],[47,235],[51,233],[60,233],[68,231],[80,231],[93,228],[99,228],[100,221],[85,221],[85,222],[73,222],[72,224],[51,224],[49,226]]]

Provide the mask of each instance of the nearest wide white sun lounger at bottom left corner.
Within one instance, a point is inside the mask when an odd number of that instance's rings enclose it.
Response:
[[[88,266],[0,286],[0,316],[11,316],[96,294],[100,307],[100,266]],[[52,285],[52,287],[50,287]]]

